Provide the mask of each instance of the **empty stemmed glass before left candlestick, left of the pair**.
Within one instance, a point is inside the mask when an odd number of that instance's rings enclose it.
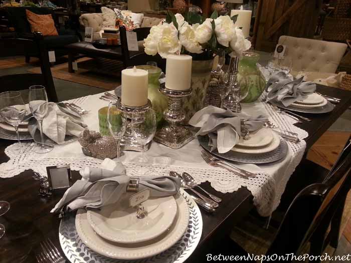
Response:
[[[120,102],[110,102],[107,110],[107,125],[113,138],[117,141],[117,159],[120,157],[120,142],[127,127],[127,121],[119,110]]]

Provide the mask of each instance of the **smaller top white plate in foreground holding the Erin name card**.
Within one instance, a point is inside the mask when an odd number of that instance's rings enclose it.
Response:
[[[137,218],[136,208],[129,207],[130,194],[124,195],[118,206],[110,204],[101,209],[89,209],[87,218],[100,236],[118,243],[138,243],[153,239],[172,224],[177,214],[173,196],[150,198],[142,203],[147,216]]]

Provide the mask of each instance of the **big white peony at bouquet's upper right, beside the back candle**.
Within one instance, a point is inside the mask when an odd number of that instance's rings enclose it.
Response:
[[[217,41],[224,47],[229,47],[229,42],[234,37],[234,23],[229,16],[220,16],[215,19],[215,32]]]

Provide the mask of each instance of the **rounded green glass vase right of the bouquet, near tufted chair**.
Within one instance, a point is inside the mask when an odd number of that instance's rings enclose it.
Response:
[[[242,94],[248,91],[242,102],[256,101],[266,87],[266,80],[256,65],[259,58],[260,55],[257,53],[244,52],[243,58],[239,61],[238,80]]]

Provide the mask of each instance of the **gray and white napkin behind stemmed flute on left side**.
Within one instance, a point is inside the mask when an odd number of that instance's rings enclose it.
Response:
[[[54,102],[48,103],[48,112],[43,120],[45,144],[53,144],[53,141],[57,144],[63,144],[74,136],[78,137],[85,127],[87,125],[77,113]],[[34,141],[40,143],[40,129],[34,117],[29,120],[28,130]]]

